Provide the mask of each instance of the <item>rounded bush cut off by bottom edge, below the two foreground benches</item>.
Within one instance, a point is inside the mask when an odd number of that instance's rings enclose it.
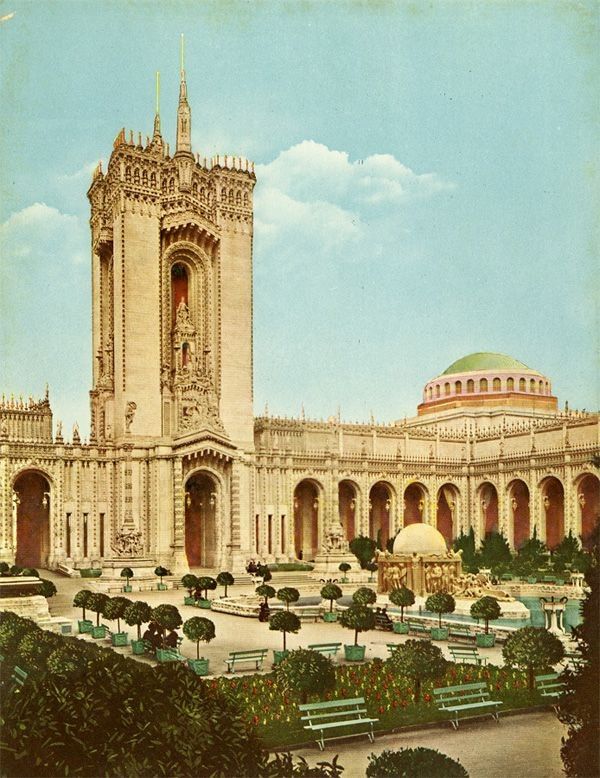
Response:
[[[368,778],[469,778],[460,762],[434,748],[401,748],[371,754]]]

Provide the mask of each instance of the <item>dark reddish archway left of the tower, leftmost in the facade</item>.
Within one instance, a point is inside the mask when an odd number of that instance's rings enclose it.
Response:
[[[49,479],[37,470],[25,470],[13,483],[16,507],[15,564],[20,567],[47,567],[50,554]]]

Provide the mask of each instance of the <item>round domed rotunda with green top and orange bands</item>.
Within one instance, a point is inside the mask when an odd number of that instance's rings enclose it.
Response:
[[[425,385],[418,415],[455,408],[556,411],[550,379],[513,357],[477,352],[453,362]]]

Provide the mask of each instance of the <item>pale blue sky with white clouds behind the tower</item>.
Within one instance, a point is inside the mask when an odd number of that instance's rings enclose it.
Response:
[[[499,351],[597,408],[595,2],[0,2],[0,391],[88,429],[85,192],[122,126],[257,164],[255,409],[413,415]]]

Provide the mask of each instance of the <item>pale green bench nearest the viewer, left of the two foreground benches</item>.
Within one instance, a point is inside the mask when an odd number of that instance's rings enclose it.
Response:
[[[331,735],[327,736],[327,740],[337,740],[341,737],[348,737],[348,727],[359,727],[359,731],[350,734],[367,735],[371,743],[375,742],[373,724],[379,719],[372,719],[368,716],[364,697],[354,697],[351,700],[311,702],[299,705],[298,710],[304,714],[301,716],[301,720],[308,722],[304,725],[304,729],[319,733],[317,745],[321,751],[325,750],[325,730],[333,730]],[[341,730],[344,730],[343,734],[339,734]],[[336,731],[338,734],[335,734]]]

